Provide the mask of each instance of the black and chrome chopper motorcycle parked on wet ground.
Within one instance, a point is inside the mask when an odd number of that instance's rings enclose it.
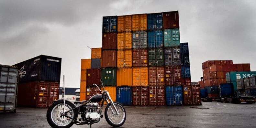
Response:
[[[103,118],[104,102],[107,104],[104,110],[107,123],[113,127],[123,125],[126,120],[124,107],[119,102],[112,101],[109,92],[104,89],[102,80],[101,84],[103,90],[99,88],[99,85],[91,85],[96,86],[101,94],[92,96],[88,101],[75,101],[74,103],[63,99],[54,101],[46,114],[50,126],[53,128],[69,128],[73,124],[90,124],[91,127],[92,124],[98,123]],[[98,102],[101,103],[100,107]],[[77,120],[78,115],[80,116]]]

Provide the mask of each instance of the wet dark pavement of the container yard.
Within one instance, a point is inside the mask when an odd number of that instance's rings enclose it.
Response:
[[[196,106],[124,106],[127,113],[123,128],[244,128],[256,127],[256,104],[202,102]],[[48,128],[47,109],[18,107],[16,113],[0,113],[0,127]],[[90,125],[73,125],[72,128]],[[92,128],[110,128],[102,118]]]

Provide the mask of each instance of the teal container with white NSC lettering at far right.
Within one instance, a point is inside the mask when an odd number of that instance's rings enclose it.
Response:
[[[237,79],[256,76],[256,71],[227,72],[227,83],[233,83],[234,91],[237,91]]]

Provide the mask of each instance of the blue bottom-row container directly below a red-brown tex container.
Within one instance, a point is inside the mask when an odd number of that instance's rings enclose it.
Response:
[[[182,105],[183,104],[183,92],[182,86],[166,86],[166,104],[167,105]]]

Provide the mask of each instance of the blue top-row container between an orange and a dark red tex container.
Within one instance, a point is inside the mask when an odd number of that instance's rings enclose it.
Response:
[[[163,28],[162,13],[147,14],[147,19],[148,30],[159,30]]]

